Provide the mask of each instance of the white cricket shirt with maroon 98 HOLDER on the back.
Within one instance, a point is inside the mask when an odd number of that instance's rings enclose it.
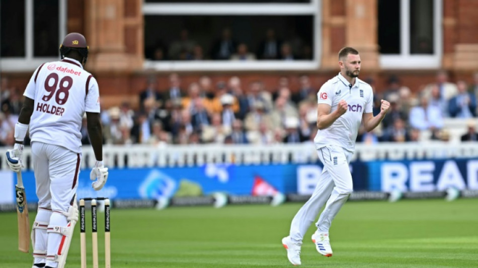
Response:
[[[35,101],[30,139],[80,153],[83,114],[100,112],[93,75],[71,58],[46,62],[35,70],[23,95]]]

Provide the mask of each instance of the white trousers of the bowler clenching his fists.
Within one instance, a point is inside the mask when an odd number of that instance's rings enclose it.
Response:
[[[326,202],[326,207],[315,225],[320,233],[329,233],[332,220],[353,191],[349,169],[352,152],[340,146],[329,145],[318,149],[317,153],[324,169],[312,196],[292,220],[290,237],[296,243],[302,243],[307,229]]]

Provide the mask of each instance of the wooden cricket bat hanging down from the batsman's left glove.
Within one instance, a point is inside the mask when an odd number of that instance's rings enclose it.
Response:
[[[28,217],[27,196],[23,187],[22,172],[17,172],[18,250],[28,253],[30,250],[30,219]]]

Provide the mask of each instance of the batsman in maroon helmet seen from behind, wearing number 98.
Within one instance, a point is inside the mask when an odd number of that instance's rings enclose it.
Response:
[[[90,178],[100,190],[108,179],[103,165],[99,88],[83,69],[88,45],[83,35],[70,33],[60,46],[62,60],[40,65],[26,87],[24,104],[15,126],[15,146],[8,153],[23,167],[23,141],[29,130],[38,213],[32,227],[33,267],[63,267],[78,220],[76,188],[82,156],[80,128],[86,112],[96,165]]]

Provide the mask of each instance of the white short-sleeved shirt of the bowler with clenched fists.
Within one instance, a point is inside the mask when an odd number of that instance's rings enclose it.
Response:
[[[347,151],[355,150],[355,139],[362,122],[363,113],[372,113],[373,92],[366,82],[355,78],[355,84],[338,74],[330,79],[317,93],[319,104],[331,106],[331,113],[337,110],[340,100],[345,100],[349,110],[339,117],[330,127],[318,130],[314,138],[316,149],[327,145],[337,145]]]

